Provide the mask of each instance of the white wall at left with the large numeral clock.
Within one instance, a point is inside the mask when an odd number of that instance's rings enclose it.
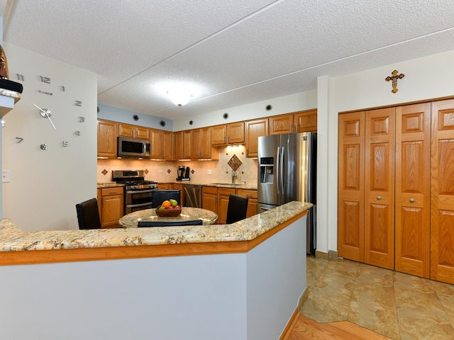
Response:
[[[4,50],[23,94],[4,116],[1,158],[11,182],[2,186],[3,217],[23,230],[78,229],[75,204],[96,197],[96,74],[14,45]],[[33,104],[52,111],[57,130]]]

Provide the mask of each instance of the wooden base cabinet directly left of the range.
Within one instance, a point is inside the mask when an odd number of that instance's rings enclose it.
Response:
[[[101,188],[101,228],[118,227],[124,215],[123,186]]]

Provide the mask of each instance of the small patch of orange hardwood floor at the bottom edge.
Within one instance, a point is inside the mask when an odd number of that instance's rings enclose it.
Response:
[[[386,336],[348,321],[319,323],[299,315],[289,336],[284,340],[389,340]]]

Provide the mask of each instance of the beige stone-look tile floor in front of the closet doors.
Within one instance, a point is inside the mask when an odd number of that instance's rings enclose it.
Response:
[[[301,314],[347,320],[395,340],[454,339],[454,285],[344,259],[307,256]]]

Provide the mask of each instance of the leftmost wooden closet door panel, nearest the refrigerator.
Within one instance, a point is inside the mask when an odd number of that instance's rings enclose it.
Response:
[[[338,255],[364,261],[364,112],[339,115]]]

